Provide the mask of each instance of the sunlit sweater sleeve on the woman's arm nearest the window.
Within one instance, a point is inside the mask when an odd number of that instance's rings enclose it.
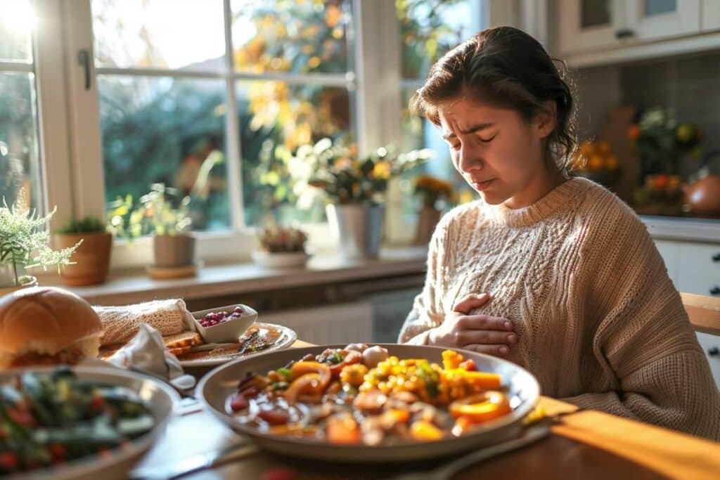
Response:
[[[441,311],[439,291],[441,291],[442,271],[446,261],[446,248],[449,216],[446,214],[438,223],[428,245],[428,271],[423,291],[415,296],[413,309],[400,329],[397,343],[425,345],[428,343],[429,330],[441,325],[444,313]]]

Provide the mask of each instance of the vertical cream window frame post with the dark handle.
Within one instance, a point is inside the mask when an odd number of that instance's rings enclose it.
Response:
[[[102,168],[102,136],[99,100],[94,73],[92,12],[90,0],[63,2],[66,24],[66,73],[68,122],[73,178],[74,214],[104,217],[105,182]],[[85,50],[89,63],[89,88],[78,53]]]

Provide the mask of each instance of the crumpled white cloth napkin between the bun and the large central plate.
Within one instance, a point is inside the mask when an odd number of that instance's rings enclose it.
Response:
[[[160,332],[146,323],[140,324],[135,337],[107,361],[121,368],[135,367],[155,373],[181,390],[195,386],[195,378],[184,373],[177,357],[166,350]]]

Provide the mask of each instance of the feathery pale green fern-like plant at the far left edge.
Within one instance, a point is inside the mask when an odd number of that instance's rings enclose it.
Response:
[[[70,258],[82,240],[61,250],[50,248],[50,232],[45,226],[55,209],[45,217],[38,217],[27,207],[22,194],[12,207],[4,201],[3,205],[0,207],[0,294],[37,285],[35,276],[25,273],[27,268],[57,266],[59,271],[71,263]]]

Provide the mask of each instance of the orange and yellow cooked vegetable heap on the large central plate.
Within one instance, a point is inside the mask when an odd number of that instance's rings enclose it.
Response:
[[[440,366],[377,345],[328,349],[248,373],[226,409],[261,432],[364,445],[459,436],[512,411],[498,374],[454,350],[442,356]]]

